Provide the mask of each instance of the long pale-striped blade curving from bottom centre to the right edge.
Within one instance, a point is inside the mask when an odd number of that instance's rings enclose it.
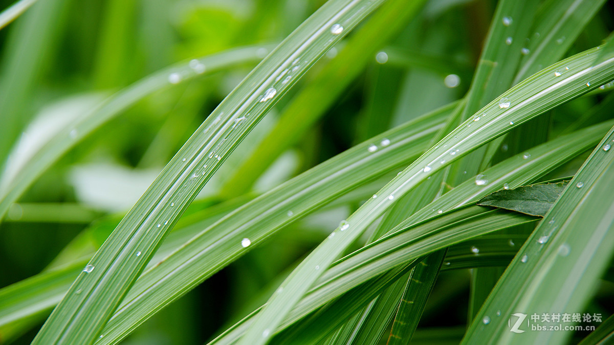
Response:
[[[273,333],[301,295],[309,289],[327,268],[377,219],[395,198],[409,192],[413,187],[446,165],[464,157],[486,142],[507,133],[515,126],[527,122],[538,114],[591,90],[586,84],[605,82],[614,77],[614,60],[592,66],[598,49],[554,64],[535,74],[523,83],[504,93],[484,107],[474,118],[465,121],[437,146],[414,161],[379,192],[379,198],[371,198],[348,220],[341,222],[327,240],[317,247],[281,285],[282,292],[271,297],[258,313],[251,330],[242,339],[243,343],[262,343]],[[569,68],[568,73],[555,76],[554,71]],[[592,85],[592,84],[591,84]],[[482,119],[481,122],[478,122]],[[448,160],[446,162],[446,160]],[[442,163],[443,161],[443,163]],[[348,230],[348,231],[345,231]],[[343,232],[345,231],[345,232]],[[335,236],[335,235],[339,236]],[[263,336],[264,335],[264,336]]]

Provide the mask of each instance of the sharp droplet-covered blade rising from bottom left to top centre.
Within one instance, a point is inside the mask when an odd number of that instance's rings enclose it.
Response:
[[[128,212],[47,319],[34,344],[88,344],[99,338],[168,230],[223,160],[280,96],[379,4],[329,1],[258,64]],[[295,68],[290,80],[281,80],[282,71],[289,68]],[[78,289],[82,293],[76,294]]]

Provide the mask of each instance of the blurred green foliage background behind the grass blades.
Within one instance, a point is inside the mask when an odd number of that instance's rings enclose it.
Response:
[[[0,1],[0,8],[12,3]],[[0,116],[14,118],[0,130],[0,145],[4,145],[0,150],[12,146],[33,119],[78,115],[104,96],[179,61],[244,45],[262,46],[262,58],[271,44],[281,42],[322,3],[39,0],[0,31]],[[495,2],[488,0],[432,0],[390,42],[374,42],[381,45],[378,55],[321,120],[258,179],[255,193],[391,126],[461,98],[494,6]],[[572,50],[599,44],[612,30],[612,18],[609,2]],[[321,69],[342,47],[343,42],[310,73]],[[92,222],[127,211],[254,66],[238,64],[179,85],[169,83],[64,155],[37,179],[0,224],[0,287],[41,272]],[[308,82],[310,75],[303,82]],[[204,188],[199,196],[204,200],[201,207],[222,201],[217,191],[274,125],[292,92],[266,115]],[[554,110],[554,118],[560,122],[555,128],[564,128],[602,97],[581,98]],[[160,312],[125,343],[203,343],[220,327],[265,301],[266,292],[357,206],[335,203],[294,223],[281,236]],[[451,343],[462,336],[467,314],[465,303],[451,301],[465,298],[468,284],[467,271],[442,273],[422,320],[430,327],[458,326],[448,330]],[[438,311],[443,305],[445,313]],[[39,327],[15,344],[29,343]]]

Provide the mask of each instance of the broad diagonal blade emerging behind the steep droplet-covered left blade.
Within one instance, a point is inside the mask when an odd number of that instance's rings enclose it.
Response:
[[[427,149],[433,134],[454,107],[456,103],[449,104],[357,145],[204,229],[136,282],[104,329],[104,338],[97,343],[119,341],[155,311],[181,297],[284,225],[370,179],[410,163]],[[376,152],[368,150],[371,142],[384,139],[390,144]]]

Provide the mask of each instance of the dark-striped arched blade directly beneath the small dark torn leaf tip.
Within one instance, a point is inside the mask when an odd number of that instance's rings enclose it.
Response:
[[[279,331],[288,327],[305,327],[300,324],[301,320],[340,297],[340,300],[344,299],[345,304],[336,304],[335,308],[328,309],[340,318],[337,322],[343,322],[345,316],[343,311],[351,309],[348,316],[356,312],[356,309],[352,308],[357,308],[355,303],[357,297],[373,293],[368,287],[371,279],[377,280],[382,274],[394,273],[395,269],[402,269],[398,271],[398,274],[402,275],[404,269],[416,265],[418,263],[416,259],[423,255],[465,241],[467,238],[535,220],[535,217],[516,212],[497,209],[488,211],[483,206],[467,206],[379,239],[331,266],[321,277],[319,284],[293,307]],[[367,284],[365,289],[360,289],[362,284]],[[354,293],[345,296],[344,294],[350,290],[354,290]],[[373,297],[375,295],[365,298],[364,303],[369,303]],[[241,338],[246,329],[254,323],[256,315],[256,312],[252,313],[210,344],[229,344]],[[319,319],[314,319],[313,322],[317,322],[319,328],[335,325],[332,322],[320,323]]]

